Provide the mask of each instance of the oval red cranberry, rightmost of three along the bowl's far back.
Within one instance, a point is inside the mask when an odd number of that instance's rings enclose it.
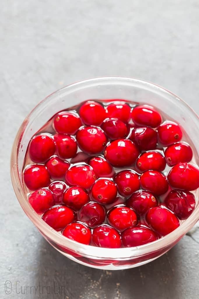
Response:
[[[162,121],[160,113],[148,105],[133,108],[131,115],[133,122],[138,126],[157,128]]]

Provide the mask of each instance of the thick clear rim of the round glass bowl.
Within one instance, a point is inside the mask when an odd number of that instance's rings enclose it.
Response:
[[[13,184],[13,189],[15,191],[16,197],[18,199],[18,202],[20,203],[22,209],[27,214],[27,216],[30,218],[30,220],[36,225],[38,230],[41,232],[41,234],[45,238],[49,238],[53,242],[57,243],[58,245],[64,246],[66,248],[70,248],[72,251],[78,252],[80,254],[83,254],[84,256],[95,258],[99,257],[101,259],[103,258],[112,258],[112,259],[129,259],[130,257],[136,257],[141,256],[144,254],[147,254],[149,252],[154,252],[161,250],[163,248],[167,248],[169,245],[172,245],[173,243],[178,242],[181,237],[183,237],[192,227],[193,225],[198,221],[199,219],[199,204],[193,211],[193,213],[189,216],[188,219],[186,219],[186,222],[183,222],[177,229],[172,231],[170,234],[166,235],[165,237],[162,237],[154,242],[147,243],[145,245],[136,246],[136,247],[129,247],[129,248],[100,248],[95,247],[92,245],[84,245],[81,243],[78,243],[76,241],[73,241],[71,239],[68,239],[64,237],[62,234],[55,231],[53,228],[51,228],[49,225],[47,225],[46,222],[44,222],[41,217],[33,210],[33,208],[30,206],[29,202],[27,201],[27,196],[23,192],[23,188],[21,185],[20,180],[20,174],[18,170],[18,153],[20,148],[20,141],[23,136],[24,130],[27,126],[27,123],[38,107],[48,101],[48,99],[55,94],[61,93],[63,91],[66,91],[68,89],[74,89],[76,90],[81,89],[82,87],[88,87],[88,86],[95,86],[98,84],[133,84],[137,86],[142,86],[146,89],[146,87],[151,90],[152,92],[156,91],[163,95],[172,96],[172,99],[176,101],[180,101],[183,106],[188,109],[194,118],[198,121],[198,127],[199,127],[199,116],[197,113],[181,98],[179,98],[177,95],[173,94],[169,90],[145,81],[140,80],[137,78],[130,78],[130,77],[119,77],[119,76],[110,76],[110,77],[95,77],[87,80],[81,80],[72,84],[69,84],[67,86],[62,87],[61,89],[58,89],[57,91],[49,94],[47,97],[45,97],[43,100],[41,100],[34,108],[33,110],[27,115],[27,117],[24,119],[23,123],[21,124],[17,135],[15,137],[12,152],[11,152],[11,159],[10,159],[10,173],[11,173],[11,181]]]

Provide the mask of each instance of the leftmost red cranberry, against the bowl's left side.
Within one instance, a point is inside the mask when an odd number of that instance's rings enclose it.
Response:
[[[32,164],[24,170],[24,182],[28,189],[34,191],[50,184],[50,175],[44,165]]]

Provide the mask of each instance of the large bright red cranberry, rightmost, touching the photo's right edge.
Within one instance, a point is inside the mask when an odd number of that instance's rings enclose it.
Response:
[[[191,191],[199,187],[199,169],[188,163],[176,164],[167,178],[174,188]]]

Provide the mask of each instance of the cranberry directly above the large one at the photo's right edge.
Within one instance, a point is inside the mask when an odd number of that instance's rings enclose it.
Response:
[[[193,157],[193,152],[186,142],[177,142],[167,147],[164,155],[166,163],[169,166],[173,166],[177,163],[190,162]]]

